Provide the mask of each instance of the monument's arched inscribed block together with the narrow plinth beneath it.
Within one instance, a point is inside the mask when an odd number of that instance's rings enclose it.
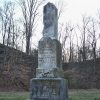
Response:
[[[57,77],[57,69],[62,68],[61,44],[50,37],[39,41],[37,77]]]

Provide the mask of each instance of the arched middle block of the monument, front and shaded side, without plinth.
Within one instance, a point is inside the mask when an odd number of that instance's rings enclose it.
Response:
[[[38,67],[60,68],[61,66],[61,44],[49,37],[39,41]]]

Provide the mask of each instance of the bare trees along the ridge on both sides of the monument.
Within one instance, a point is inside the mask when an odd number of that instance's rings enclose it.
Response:
[[[31,38],[40,17],[39,9],[44,3],[45,0],[5,1],[0,7],[1,43],[31,54]],[[21,17],[17,15],[17,7],[20,9]],[[58,20],[63,14],[61,12],[62,9],[59,10]],[[79,25],[73,25],[66,20],[66,25],[62,23],[59,26],[59,40],[62,44],[64,62],[79,62],[89,59],[94,59],[96,62],[96,58],[100,57],[99,11],[96,18],[82,16]]]

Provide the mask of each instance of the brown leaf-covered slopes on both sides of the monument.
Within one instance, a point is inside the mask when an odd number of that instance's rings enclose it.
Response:
[[[0,44],[0,91],[29,90],[35,77],[37,56]],[[94,61],[63,63],[69,88],[100,88],[100,58]]]

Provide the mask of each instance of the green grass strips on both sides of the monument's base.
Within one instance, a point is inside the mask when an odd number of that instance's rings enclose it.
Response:
[[[69,90],[71,100],[100,100],[100,90]],[[0,100],[28,100],[29,92],[0,92]]]

